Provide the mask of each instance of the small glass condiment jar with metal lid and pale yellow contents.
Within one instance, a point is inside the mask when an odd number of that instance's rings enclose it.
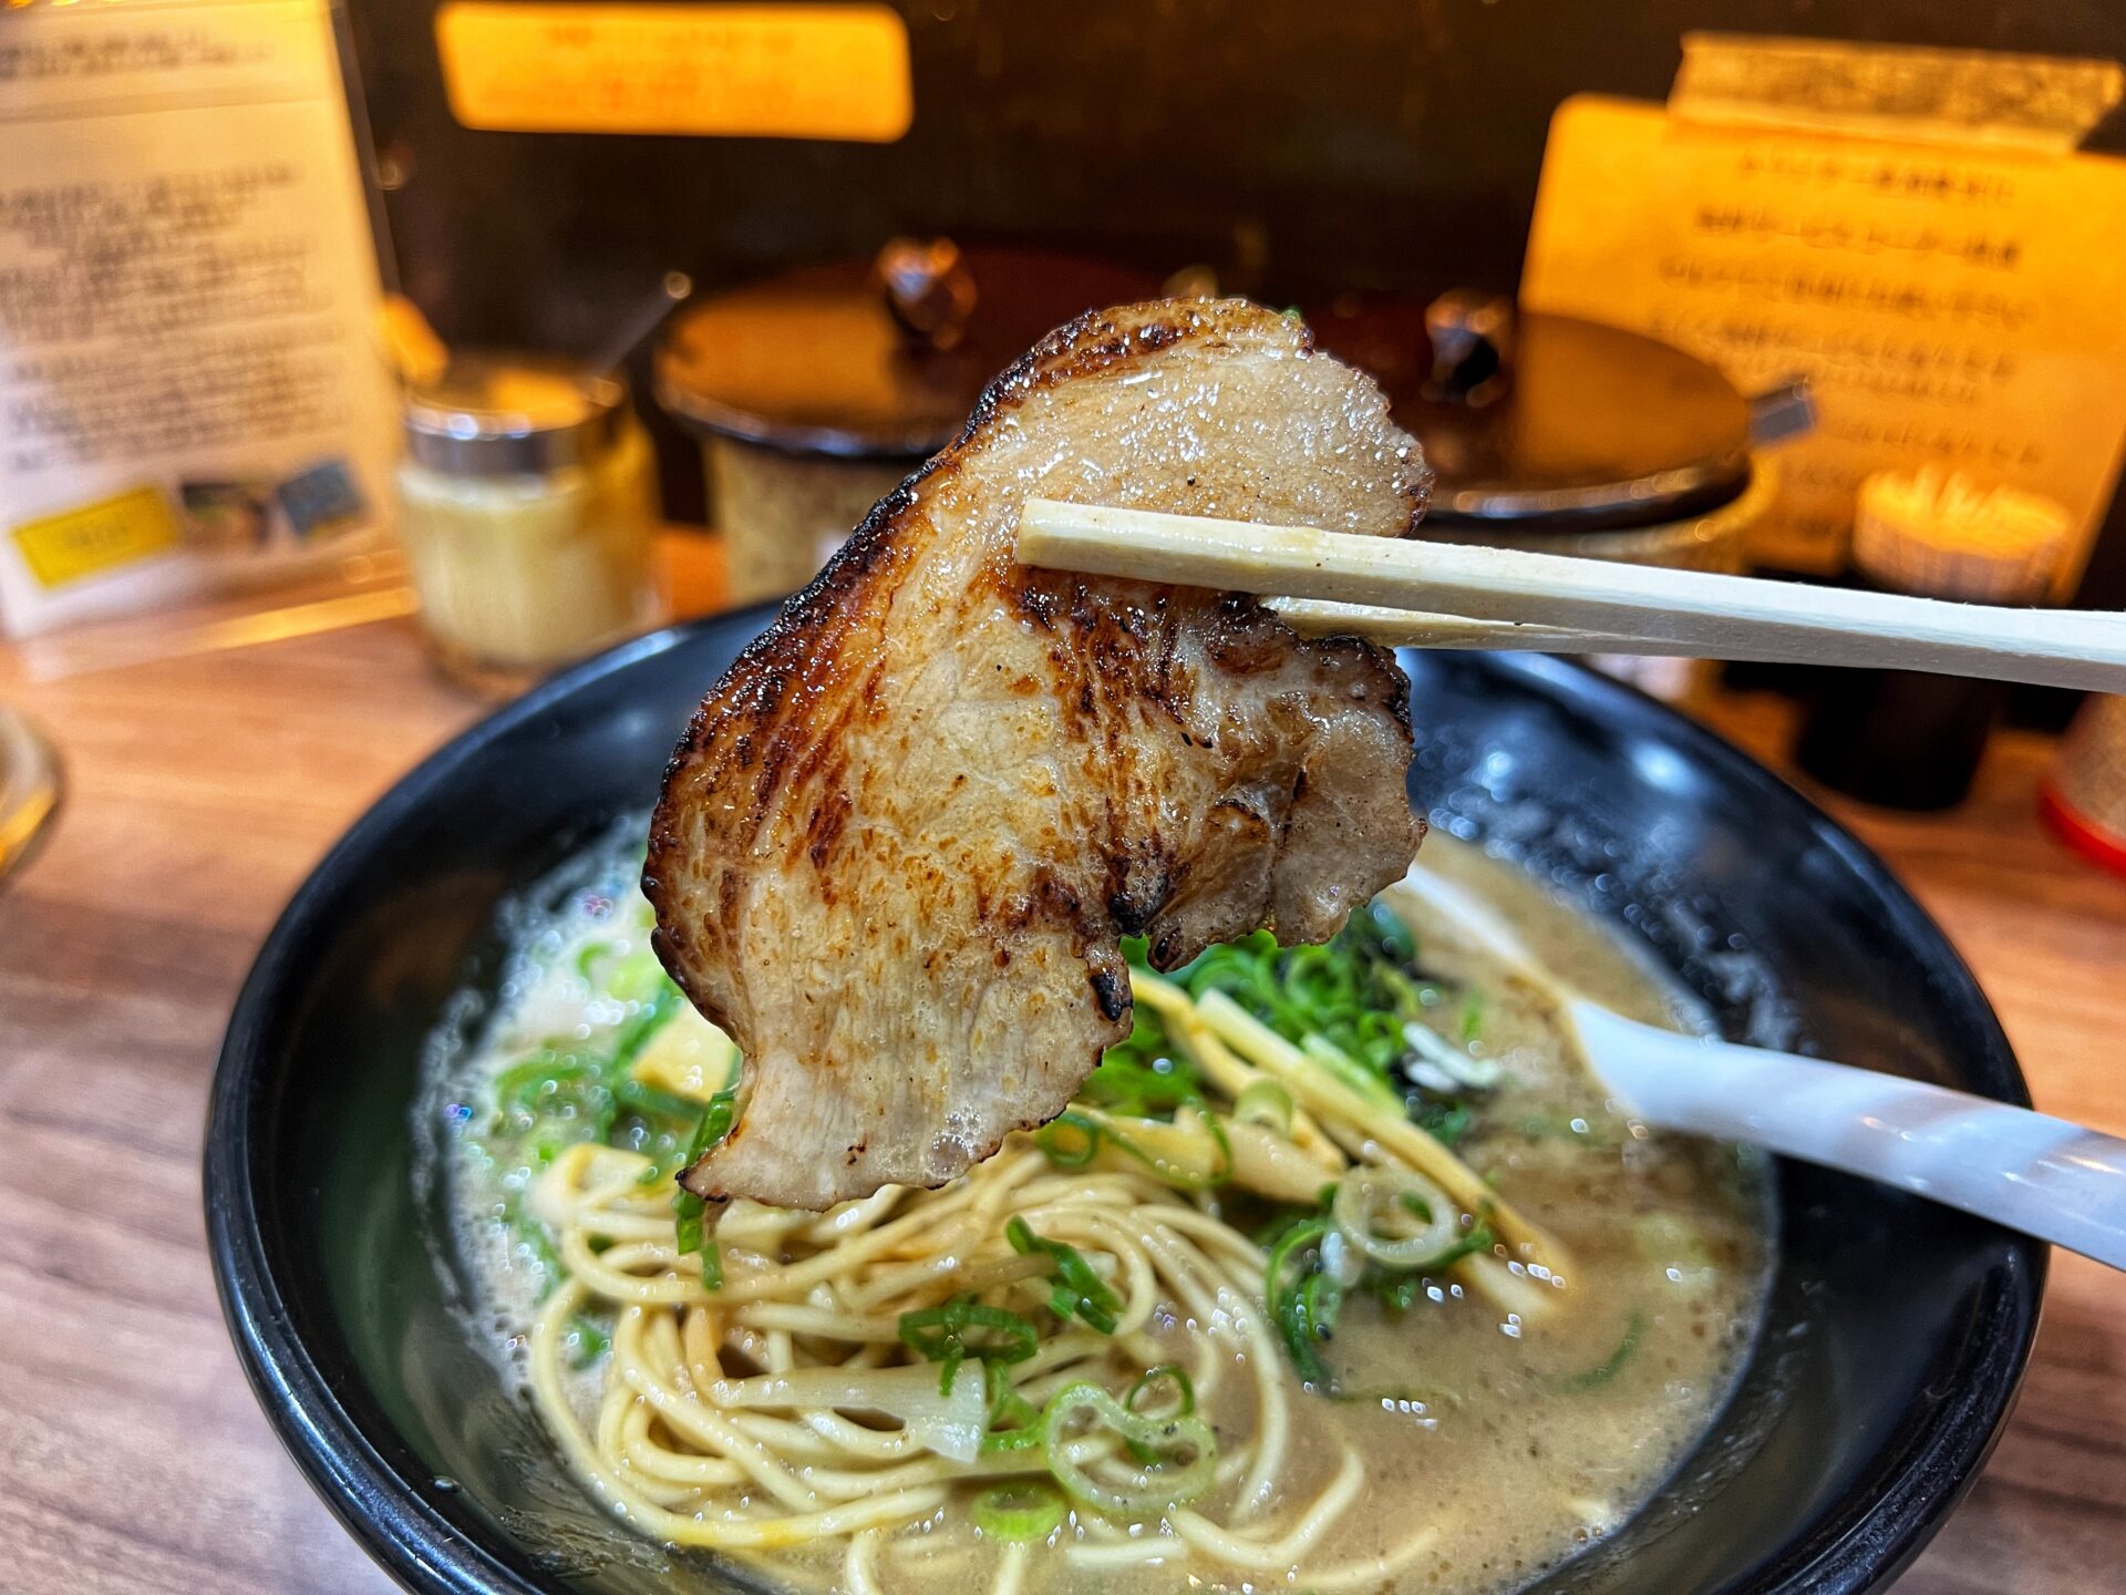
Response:
[[[514,691],[657,619],[657,472],[627,385],[453,355],[406,396],[400,538],[438,661]]]

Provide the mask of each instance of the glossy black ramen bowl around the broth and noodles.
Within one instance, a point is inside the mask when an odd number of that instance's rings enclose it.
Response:
[[[296,893],[215,1076],[206,1212],[259,1401],[417,1591],[729,1591],[578,1493],[457,1312],[415,1178],[423,1040],[493,983],[495,910],[653,800],[761,610],[604,655],[451,742]],[[1962,961],[1884,866],[1718,738],[1552,659],[1405,659],[1412,802],[1641,940],[1733,1038],[2026,1102]],[[1563,1591],[1879,1589],[1975,1478],[2037,1327],[2037,1242],[1807,1165],[1724,1414]],[[1501,1501],[1501,1510],[1512,1510]]]

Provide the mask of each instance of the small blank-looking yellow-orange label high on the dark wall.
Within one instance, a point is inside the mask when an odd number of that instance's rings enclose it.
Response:
[[[914,119],[880,4],[444,0],[436,49],[468,128],[891,142]]]

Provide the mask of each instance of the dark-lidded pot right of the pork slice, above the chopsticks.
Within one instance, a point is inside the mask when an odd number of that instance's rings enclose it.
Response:
[[[1446,540],[1739,570],[1773,496],[1756,449],[1813,421],[1805,389],[1750,400],[1654,338],[1478,293],[1346,296],[1307,321],[1424,444]]]

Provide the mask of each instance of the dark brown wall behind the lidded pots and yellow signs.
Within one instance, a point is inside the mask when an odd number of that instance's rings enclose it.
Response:
[[[434,0],[347,4],[400,285],[453,342],[563,351],[668,268],[712,289],[897,232],[1203,262],[1271,302],[1512,289],[1550,113],[1663,98],[1686,30],[2126,60],[2105,0],[895,0],[895,145],[485,134],[444,104]],[[2126,604],[2122,521],[2092,600]]]

